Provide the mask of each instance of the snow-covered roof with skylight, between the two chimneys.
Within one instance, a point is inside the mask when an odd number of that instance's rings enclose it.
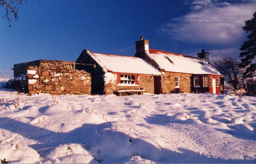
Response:
[[[221,75],[219,71],[206,60],[198,57],[175,54],[155,49],[149,49],[149,53],[160,68],[165,71]]]

